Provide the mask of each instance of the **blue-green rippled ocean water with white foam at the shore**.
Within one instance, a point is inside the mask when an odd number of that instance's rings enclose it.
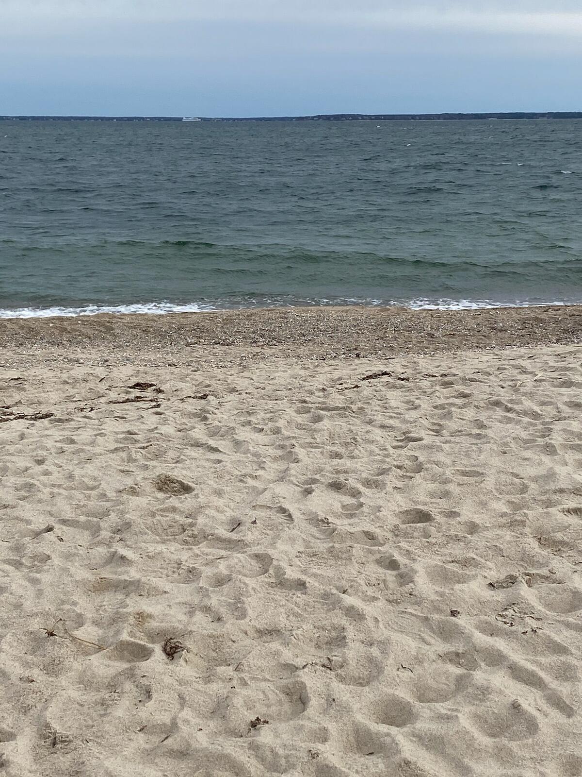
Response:
[[[582,302],[582,121],[0,122],[0,317]]]

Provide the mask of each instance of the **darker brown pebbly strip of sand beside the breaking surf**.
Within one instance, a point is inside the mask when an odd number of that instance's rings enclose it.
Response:
[[[582,343],[582,305],[413,311],[263,308],[0,320],[7,356],[334,358]]]

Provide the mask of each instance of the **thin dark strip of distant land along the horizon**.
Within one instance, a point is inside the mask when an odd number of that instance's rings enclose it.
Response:
[[[0,116],[0,121],[490,121],[524,119],[582,119],[582,111],[514,113],[321,113],[315,116],[196,117],[182,116]]]

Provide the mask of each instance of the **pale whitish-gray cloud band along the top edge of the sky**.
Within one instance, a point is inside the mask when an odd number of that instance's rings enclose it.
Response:
[[[582,37],[579,0],[0,0],[0,12],[12,29],[198,20]]]

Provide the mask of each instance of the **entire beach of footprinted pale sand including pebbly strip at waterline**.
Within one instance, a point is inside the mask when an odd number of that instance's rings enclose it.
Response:
[[[582,775],[580,343],[575,306],[0,321],[3,773]]]

